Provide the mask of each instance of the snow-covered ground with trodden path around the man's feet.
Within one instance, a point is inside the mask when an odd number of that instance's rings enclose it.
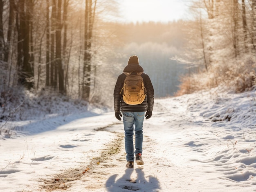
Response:
[[[0,137],[0,191],[256,191],[255,94],[156,99],[144,121],[144,165],[134,169],[125,168],[114,113],[10,122],[11,138]]]

